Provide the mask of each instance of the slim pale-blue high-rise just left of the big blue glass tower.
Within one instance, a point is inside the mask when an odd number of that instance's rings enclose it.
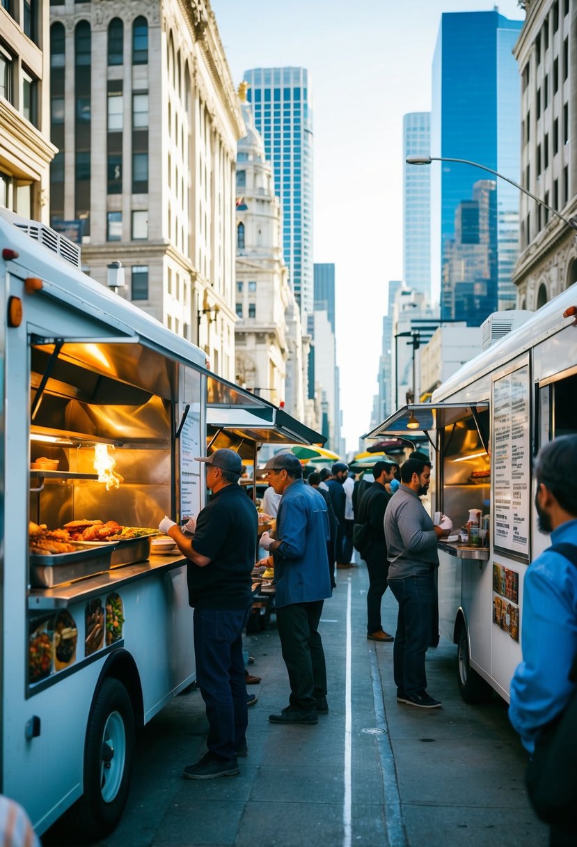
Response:
[[[431,113],[410,112],[403,118],[403,158],[431,152]],[[414,291],[431,298],[431,169],[404,162],[403,279]]]

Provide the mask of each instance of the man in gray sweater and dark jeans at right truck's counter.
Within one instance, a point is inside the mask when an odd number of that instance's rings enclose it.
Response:
[[[419,497],[431,483],[431,464],[408,459],[401,467],[401,485],[385,512],[388,579],[398,601],[393,673],[398,703],[435,709],[438,700],[426,693],[425,654],[431,645],[437,606],[435,571],[437,541],[448,530],[433,526]]]

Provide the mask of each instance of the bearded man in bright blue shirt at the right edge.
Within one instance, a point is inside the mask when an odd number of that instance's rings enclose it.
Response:
[[[577,545],[577,435],[563,435],[536,458],[538,527],[553,545]],[[511,682],[509,719],[531,754],[535,741],[563,711],[574,690],[569,668],[577,656],[577,567],[549,549],[525,571],[523,661]],[[577,844],[577,817],[570,829],[553,825],[551,847]]]

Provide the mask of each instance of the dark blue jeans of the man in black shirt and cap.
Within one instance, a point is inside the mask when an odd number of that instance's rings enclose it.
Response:
[[[243,629],[248,609],[195,609],[196,682],[208,718],[206,746],[222,759],[233,759],[245,744],[246,707]]]

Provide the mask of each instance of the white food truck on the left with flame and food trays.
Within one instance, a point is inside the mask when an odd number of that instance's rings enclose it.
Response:
[[[195,680],[186,561],[153,534],[204,505],[192,457],[207,435],[253,457],[324,439],[15,223],[0,214],[0,791],[37,833],[66,812],[94,839],[122,815],[135,730]],[[72,521],[131,533],[30,551],[29,522]]]

